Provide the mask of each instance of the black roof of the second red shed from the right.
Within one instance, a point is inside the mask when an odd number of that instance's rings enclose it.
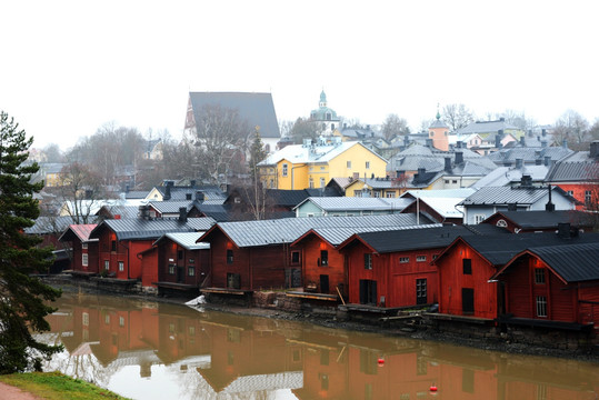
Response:
[[[562,238],[553,232],[543,232],[503,234],[497,237],[468,236],[462,237],[461,239],[491,262],[491,264],[503,266],[508,263],[513,256],[531,248],[599,242],[599,233],[580,233],[578,236]]]

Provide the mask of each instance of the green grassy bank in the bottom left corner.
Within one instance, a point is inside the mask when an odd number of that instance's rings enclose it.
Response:
[[[0,376],[0,381],[48,400],[126,400],[109,390],[59,372],[13,373]]]

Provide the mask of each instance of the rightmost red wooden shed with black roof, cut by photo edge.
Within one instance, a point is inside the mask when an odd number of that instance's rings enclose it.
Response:
[[[492,277],[506,288],[499,322],[599,333],[599,240],[540,246],[513,256]]]

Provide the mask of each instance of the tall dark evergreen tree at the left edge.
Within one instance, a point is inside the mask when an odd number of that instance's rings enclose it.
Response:
[[[52,252],[36,248],[40,239],[23,233],[39,216],[33,193],[43,183],[30,183],[39,167],[23,162],[33,139],[18,127],[0,111],[0,373],[40,370],[42,358],[61,349],[32,336],[50,329],[44,317],[53,309],[47,302],[60,291],[32,277],[47,270]]]

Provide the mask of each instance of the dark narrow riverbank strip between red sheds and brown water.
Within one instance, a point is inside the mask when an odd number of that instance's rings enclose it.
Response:
[[[48,279],[47,283],[60,288],[66,292],[74,293],[98,293],[113,294],[101,290],[93,290],[79,286],[70,279]],[[122,294],[120,294],[122,296]],[[177,297],[156,297],[142,294],[127,294],[128,298],[150,300],[157,302],[168,302],[176,304],[184,304],[188,299]],[[460,334],[449,331],[439,331],[432,324],[427,324],[420,319],[417,323],[410,324],[382,324],[379,319],[371,320],[351,320],[340,317],[336,312],[319,313],[306,312],[301,310],[289,311],[278,307],[244,307],[223,302],[208,302],[201,306],[204,310],[214,310],[229,312],[239,316],[274,318],[281,320],[293,320],[300,322],[313,323],[331,329],[346,329],[362,332],[375,332],[387,336],[400,336],[410,339],[430,340],[437,342],[447,342],[455,346],[470,347],[489,351],[501,351],[516,354],[533,354],[547,356],[565,359],[576,359],[581,361],[599,362],[599,349],[597,347],[587,349],[568,349],[568,348],[548,348],[535,346],[523,341],[513,341],[508,336],[476,336]]]

